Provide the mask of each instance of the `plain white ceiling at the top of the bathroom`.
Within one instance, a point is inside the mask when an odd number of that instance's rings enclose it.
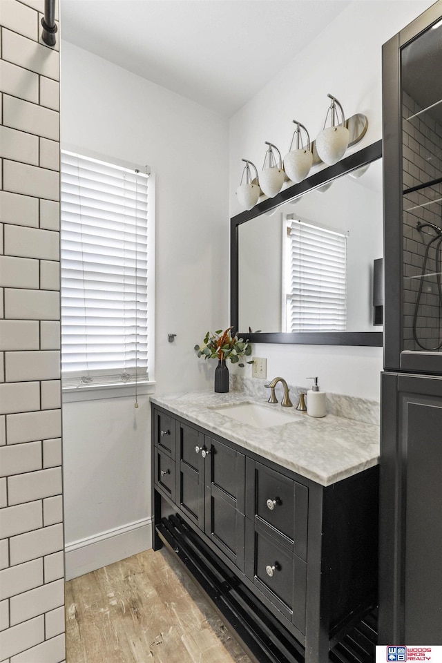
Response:
[[[230,116],[351,0],[61,0],[61,35]]]

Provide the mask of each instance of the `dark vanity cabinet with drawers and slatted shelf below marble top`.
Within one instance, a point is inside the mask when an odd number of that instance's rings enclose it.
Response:
[[[376,606],[378,467],[320,486],[152,412],[154,548],[182,561],[253,661],[329,663]]]

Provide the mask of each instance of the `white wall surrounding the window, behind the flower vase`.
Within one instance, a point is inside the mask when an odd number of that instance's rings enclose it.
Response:
[[[155,173],[157,393],[212,385],[193,346],[228,322],[228,142],[227,119],[62,43],[61,146]],[[138,400],[64,403],[67,577],[148,543],[150,412]]]

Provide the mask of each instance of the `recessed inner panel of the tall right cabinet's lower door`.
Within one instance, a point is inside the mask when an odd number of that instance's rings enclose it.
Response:
[[[405,397],[404,397],[405,398]],[[405,642],[442,644],[442,398],[405,398]],[[439,640],[437,634],[439,633]],[[435,640],[436,638],[436,640]]]

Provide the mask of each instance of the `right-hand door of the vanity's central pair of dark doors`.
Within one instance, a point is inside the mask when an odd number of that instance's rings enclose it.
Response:
[[[244,455],[206,437],[205,532],[238,568],[244,568]]]

